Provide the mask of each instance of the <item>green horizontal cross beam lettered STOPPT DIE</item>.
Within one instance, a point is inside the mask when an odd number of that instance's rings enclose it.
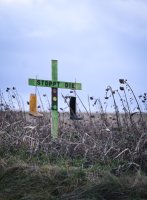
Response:
[[[65,81],[52,81],[41,79],[29,79],[29,85],[50,88],[63,88],[71,90],[82,90],[81,83],[65,82]]]

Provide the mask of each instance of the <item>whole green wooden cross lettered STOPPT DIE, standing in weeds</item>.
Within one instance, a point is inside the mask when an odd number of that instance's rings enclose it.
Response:
[[[81,83],[63,82],[58,81],[58,61],[52,60],[52,80],[29,79],[29,85],[40,87],[51,87],[51,111],[52,111],[52,124],[51,136],[53,139],[58,137],[58,88],[81,90]]]

